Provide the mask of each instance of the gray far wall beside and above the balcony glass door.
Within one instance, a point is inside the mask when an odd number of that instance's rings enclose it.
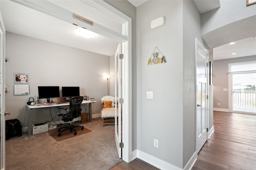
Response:
[[[218,109],[228,108],[228,92],[224,92],[223,89],[228,89],[228,64],[239,63],[246,61],[256,61],[256,56],[239,57],[234,59],[217,60],[213,62],[213,107]],[[220,106],[218,106],[220,103]],[[226,111],[226,110],[223,110]]]

